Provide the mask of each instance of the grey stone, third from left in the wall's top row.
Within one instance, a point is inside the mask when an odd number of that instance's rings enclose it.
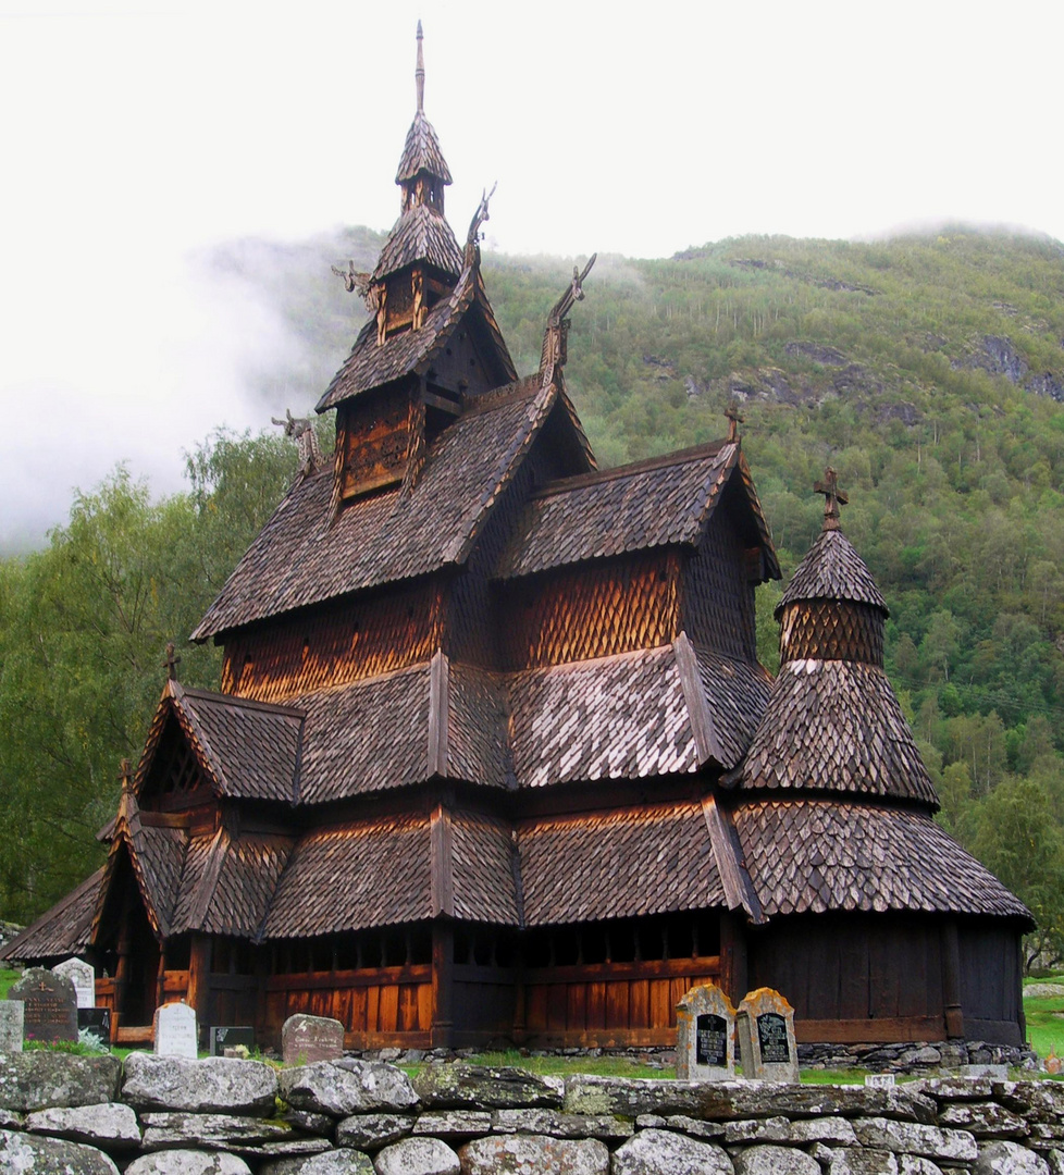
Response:
[[[381,1061],[318,1061],[281,1070],[281,1096],[296,1109],[348,1117],[350,1114],[395,1113],[418,1103],[402,1069]]]

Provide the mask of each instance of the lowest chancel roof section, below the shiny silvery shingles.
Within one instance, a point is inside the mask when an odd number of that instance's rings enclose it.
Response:
[[[699,804],[530,821],[518,850],[528,926],[726,905]]]

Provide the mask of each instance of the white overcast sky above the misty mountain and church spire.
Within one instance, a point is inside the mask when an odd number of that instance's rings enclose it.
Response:
[[[498,181],[509,253],[1064,239],[1059,2],[0,0],[0,549],[119,459],[167,492],[268,424],[248,371],[290,344],[195,258],[391,226],[419,16],[459,237]]]

